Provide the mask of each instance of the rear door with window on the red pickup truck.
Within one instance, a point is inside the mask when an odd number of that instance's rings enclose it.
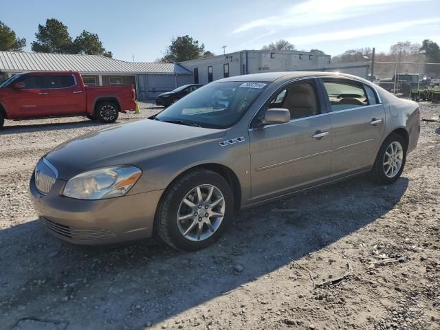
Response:
[[[50,74],[45,77],[49,115],[85,113],[85,93],[74,74]]]

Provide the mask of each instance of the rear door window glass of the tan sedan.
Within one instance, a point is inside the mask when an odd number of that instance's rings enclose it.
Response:
[[[340,111],[369,105],[362,84],[351,80],[324,80],[331,111]]]

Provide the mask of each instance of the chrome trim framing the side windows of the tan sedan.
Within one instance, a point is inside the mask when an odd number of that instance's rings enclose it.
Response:
[[[345,77],[345,76],[338,76],[338,75],[334,75],[334,76],[333,76],[333,75],[331,75],[331,76],[307,76],[307,77],[293,78],[293,79],[291,79],[291,80],[287,80],[287,82],[285,82],[283,85],[281,85],[281,87],[278,87],[278,89],[283,89],[283,87],[285,87],[286,85],[291,84],[291,83],[295,83],[295,82],[300,81],[300,80],[316,79],[316,78],[318,78],[318,79],[319,79],[319,78],[338,78],[338,79],[347,79],[347,80],[353,80],[353,81],[355,81],[355,82],[357,82],[357,83],[361,83],[361,84],[364,84],[364,85],[368,85],[368,86],[371,87],[371,88],[373,89],[373,91],[375,92],[375,94],[376,94],[376,96],[377,96],[377,103],[376,103],[376,104],[369,104],[369,105],[362,105],[362,106],[360,106],[360,107],[354,107],[354,108],[349,108],[349,109],[344,109],[344,110],[329,111],[329,112],[326,112],[326,113],[320,113],[320,114],[318,114],[318,115],[309,115],[309,117],[298,118],[298,119],[292,119],[292,120],[289,120],[289,122],[284,122],[283,124],[289,124],[290,122],[296,122],[296,121],[299,121],[299,120],[305,120],[305,119],[309,119],[309,118],[316,118],[316,117],[320,117],[321,115],[328,115],[328,114],[330,114],[330,113],[340,113],[340,112],[345,112],[345,111],[355,110],[355,109],[358,109],[358,108],[366,109],[366,108],[368,108],[368,107],[375,107],[375,106],[377,106],[377,105],[382,105],[382,99],[380,98],[379,93],[377,93],[377,90],[376,90],[375,87],[373,86],[374,84],[371,84],[371,83],[366,84],[366,83],[364,83],[364,81],[359,80],[359,79],[356,79],[356,78],[353,78],[353,77]],[[275,80],[275,81],[276,81],[276,80]],[[274,82],[275,82],[275,81],[274,81]],[[273,82],[273,83],[274,83],[274,82]],[[317,88],[320,88],[320,87],[317,86]],[[278,89],[277,89],[277,90],[278,90]],[[267,98],[267,99],[264,101],[263,104],[266,104],[266,102],[267,102],[268,100],[270,100],[270,98],[272,98],[273,95],[274,95],[274,94],[272,94],[269,98]],[[272,124],[272,125],[266,125],[266,126],[263,126],[263,127],[255,128],[255,129],[251,128],[250,125],[252,124],[252,122],[254,121],[256,115],[261,111],[261,109],[262,109],[263,107],[264,107],[264,105],[261,106],[260,109],[259,109],[258,111],[256,111],[256,113],[254,113],[254,115],[252,116],[252,118],[251,118],[251,120],[250,120],[250,122],[249,122],[249,125],[248,125],[248,131],[249,131],[249,132],[250,132],[250,131],[254,131],[254,130],[259,130],[259,129],[265,129],[266,127],[273,127],[273,126],[283,125],[283,124]]]

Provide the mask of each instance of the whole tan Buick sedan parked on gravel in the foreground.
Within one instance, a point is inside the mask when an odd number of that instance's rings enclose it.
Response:
[[[392,184],[419,131],[417,103],[362,78],[235,76],[146,120],[57,146],[36,164],[30,192],[47,230],[65,241],[156,232],[199,250],[243,208],[366,172]]]

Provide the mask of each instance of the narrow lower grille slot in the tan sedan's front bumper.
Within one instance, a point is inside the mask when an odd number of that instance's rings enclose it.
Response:
[[[56,234],[67,237],[68,239],[78,239],[81,241],[89,241],[95,239],[110,239],[114,237],[113,232],[102,228],[76,228],[69,225],[62,225],[49,219],[43,218],[43,223],[47,229]]]

